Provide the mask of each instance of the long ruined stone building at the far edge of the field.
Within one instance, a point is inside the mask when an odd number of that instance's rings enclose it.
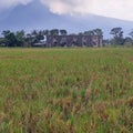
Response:
[[[101,35],[48,35],[45,47],[102,47]]]

